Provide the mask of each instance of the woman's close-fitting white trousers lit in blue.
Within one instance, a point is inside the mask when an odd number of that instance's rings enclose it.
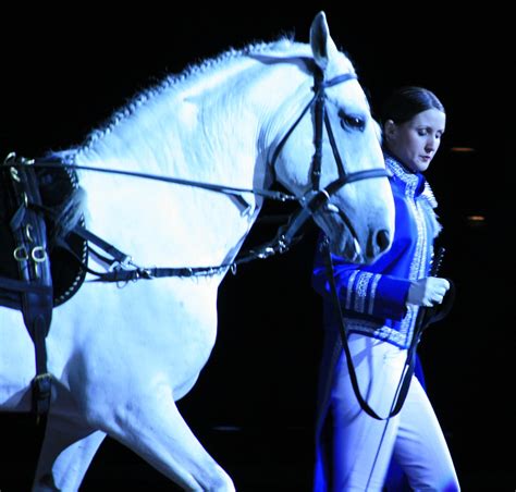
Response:
[[[386,417],[407,352],[355,334],[349,336],[348,345],[363,397],[380,417]],[[330,411],[334,431],[334,492],[380,491],[391,456],[416,491],[459,490],[443,432],[425,390],[415,377],[402,410],[389,419],[382,440],[385,420],[377,420],[360,408],[343,352],[333,374]]]

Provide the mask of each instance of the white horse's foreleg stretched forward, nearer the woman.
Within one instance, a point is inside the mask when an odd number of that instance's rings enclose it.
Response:
[[[103,422],[106,425],[106,420]],[[181,416],[168,386],[134,397],[108,420],[110,436],[184,490],[233,492],[230,476],[206,452]]]

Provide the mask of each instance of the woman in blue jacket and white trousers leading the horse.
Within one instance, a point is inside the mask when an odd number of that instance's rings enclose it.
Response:
[[[365,411],[352,383],[328,260],[318,247],[312,281],[323,297],[325,337],[315,490],[382,490],[392,457],[413,489],[455,491],[459,484],[446,441],[417,378],[411,378],[402,409],[390,416],[418,310],[441,304],[450,288],[447,280],[429,276],[441,226],[422,175],[439,149],[446,115],[433,93],[404,87],[385,102],[381,120],[396,208],[392,247],[372,265],[349,263],[335,255],[331,262],[358,391],[382,420]]]

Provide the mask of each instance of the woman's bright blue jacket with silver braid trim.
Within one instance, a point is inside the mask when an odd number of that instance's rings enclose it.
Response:
[[[422,174],[407,171],[385,155],[392,172],[395,232],[391,249],[372,265],[349,263],[332,255],[335,283],[348,333],[361,333],[406,348],[417,310],[406,305],[410,281],[428,276],[433,239],[441,230],[433,209],[437,201]],[[323,320],[335,328],[330,284],[323,258],[317,248],[312,284],[323,297]]]

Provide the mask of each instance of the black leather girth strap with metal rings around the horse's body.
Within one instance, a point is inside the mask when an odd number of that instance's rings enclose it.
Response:
[[[45,220],[30,205],[41,205],[37,177],[28,167],[2,170],[2,304],[20,309],[36,348],[36,377],[33,380],[33,408],[37,415],[48,411],[51,376],[47,372],[45,339],[52,319],[53,294],[50,261],[47,254]],[[5,224],[9,225],[7,230]],[[9,233],[10,234],[9,234]],[[3,273],[3,272],[2,272]]]

